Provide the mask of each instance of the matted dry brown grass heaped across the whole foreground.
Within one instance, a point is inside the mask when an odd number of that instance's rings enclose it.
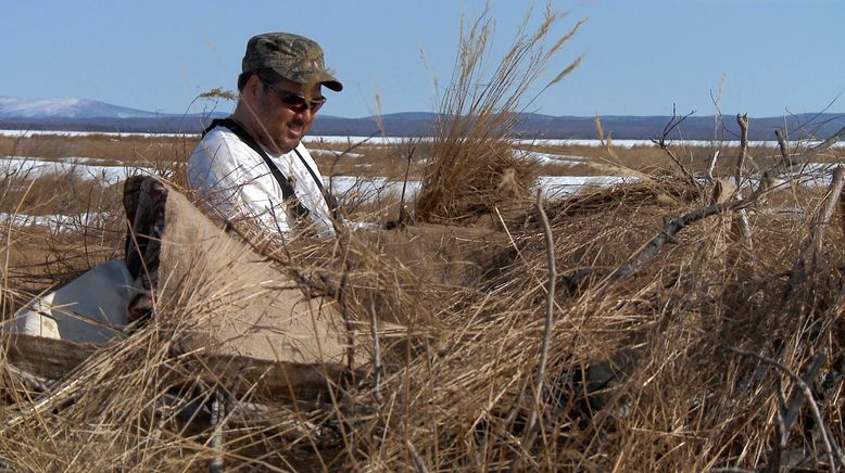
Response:
[[[806,195],[802,207],[812,210],[820,199]],[[565,277],[618,267],[666,217],[698,205],[693,190],[671,180],[550,203],[558,270]],[[226,464],[395,470],[413,462],[412,445],[429,471],[495,470],[517,459],[532,470],[756,469],[771,464],[779,386],[789,393],[793,383],[731,348],[775,358],[797,373],[827,350],[811,386],[833,438],[845,440],[843,235],[829,231],[808,259],[815,266],[806,281],[784,298],[811,226],[797,214],[760,213],[753,218],[754,252],[733,241],[729,218],[714,217],[630,278],[570,290],[558,284],[539,406],[542,435],[524,450],[547,253],[533,215],[508,228],[509,238],[424,227],[289,245],[283,263],[291,270],[346,273],[344,303],[353,319],[369,320],[375,310],[404,323],[411,337],[381,341],[378,396],[371,372],[339,386],[333,400],[302,399],[295,408],[258,393],[234,396],[239,410],[224,433]],[[89,264],[76,263],[79,269]],[[7,273],[7,294],[23,290],[23,268],[15,269]],[[171,310],[161,319],[179,320],[178,310],[190,308]],[[23,411],[23,423],[0,432],[0,457],[34,470],[207,464],[216,453],[207,424],[154,408],[166,393],[187,389],[185,380],[201,369],[173,357],[169,334],[178,330],[152,324],[100,349],[51,388],[76,380],[56,400],[61,408]],[[617,374],[605,373],[610,380],[598,386],[596,373],[607,363]],[[9,422],[30,401],[7,386]],[[207,396],[214,384],[188,386],[190,398]],[[260,402],[260,413],[250,414],[247,401]],[[806,407],[786,449],[803,468],[824,469]]]

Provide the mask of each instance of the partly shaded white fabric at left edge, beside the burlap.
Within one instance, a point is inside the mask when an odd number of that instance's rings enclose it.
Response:
[[[102,344],[129,323],[126,306],[135,294],[126,264],[105,261],[70,284],[33,299],[4,330]]]

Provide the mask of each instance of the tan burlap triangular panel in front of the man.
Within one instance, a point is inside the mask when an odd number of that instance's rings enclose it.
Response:
[[[288,276],[167,191],[156,317],[178,319],[159,322],[177,322],[185,349],[345,363],[344,323],[333,303],[305,297]]]

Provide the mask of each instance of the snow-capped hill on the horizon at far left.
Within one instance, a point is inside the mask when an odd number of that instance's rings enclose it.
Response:
[[[0,118],[144,118],[153,112],[85,99],[16,99],[0,97]]]

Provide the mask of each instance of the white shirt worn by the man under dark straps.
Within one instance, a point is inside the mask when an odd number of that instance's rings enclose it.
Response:
[[[308,150],[302,143],[297,150],[321,180]],[[266,148],[264,151],[285,177],[293,176],[293,191],[311,212],[318,234],[335,235],[326,200],[297,153],[278,154]],[[281,187],[267,164],[226,127],[215,127],[197,146],[188,161],[188,182],[206,205],[226,218],[253,217],[270,230],[293,230],[293,216],[283,210]]]

